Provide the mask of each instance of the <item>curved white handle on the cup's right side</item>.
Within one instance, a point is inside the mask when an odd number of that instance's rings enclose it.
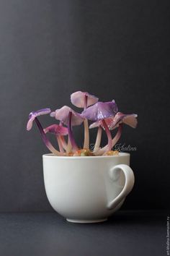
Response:
[[[120,192],[120,195],[117,195],[117,197],[109,202],[107,204],[107,209],[112,210],[119,205],[119,203],[130,193],[130,191],[133,189],[133,185],[135,182],[135,177],[133,174],[133,170],[130,168],[130,166],[127,166],[126,164],[118,164],[117,166],[114,166],[109,170],[109,175],[111,179],[116,179],[117,171],[123,171],[123,174],[125,175],[125,185]]]

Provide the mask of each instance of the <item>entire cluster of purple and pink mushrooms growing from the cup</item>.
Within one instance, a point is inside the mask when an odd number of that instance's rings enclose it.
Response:
[[[137,114],[122,114],[118,112],[114,100],[109,102],[99,102],[99,98],[86,92],[78,91],[71,94],[71,103],[84,108],[81,114],[68,106],[51,111],[50,108],[43,108],[38,111],[32,111],[29,114],[27,122],[27,131],[32,129],[32,122],[35,121],[42,140],[47,148],[54,155],[59,156],[95,156],[95,155],[118,155],[117,150],[112,150],[114,145],[120,139],[122,125],[128,124],[130,127],[137,126]],[[50,114],[59,121],[59,124],[52,124],[45,129],[42,128],[37,116]],[[93,121],[89,126],[89,121]],[[73,137],[72,127],[84,123],[84,146],[79,148]],[[65,126],[64,126],[65,125]],[[94,148],[89,148],[89,129],[97,127],[97,138]],[[117,129],[116,135],[112,138],[112,130]],[[107,134],[107,145],[101,148],[102,131]],[[56,150],[48,140],[47,133],[53,133],[58,142],[59,150]],[[66,136],[68,137],[66,140]]]

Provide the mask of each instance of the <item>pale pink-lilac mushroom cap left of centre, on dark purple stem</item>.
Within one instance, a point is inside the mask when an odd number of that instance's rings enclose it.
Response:
[[[72,113],[71,116],[71,125],[79,125],[84,121],[84,117],[81,116],[81,114],[76,113],[76,111],[73,111],[73,109],[69,108],[68,106],[63,106],[60,109],[57,109],[55,111],[55,119],[60,120],[63,124],[68,125],[68,114],[69,112]]]

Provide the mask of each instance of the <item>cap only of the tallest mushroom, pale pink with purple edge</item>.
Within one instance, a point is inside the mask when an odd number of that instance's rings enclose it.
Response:
[[[99,98],[96,96],[86,92],[81,92],[79,90],[78,92],[71,94],[71,103],[78,108],[84,108],[85,96],[87,97],[86,107],[91,106],[99,101]]]

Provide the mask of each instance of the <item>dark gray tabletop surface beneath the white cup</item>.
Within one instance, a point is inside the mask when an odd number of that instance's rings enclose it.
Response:
[[[163,256],[168,211],[120,211],[109,221],[68,223],[57,213],[0,214],[3,256]]]

